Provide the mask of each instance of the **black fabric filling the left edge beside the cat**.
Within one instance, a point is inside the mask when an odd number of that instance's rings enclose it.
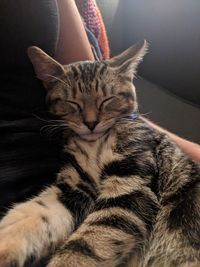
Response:
[[[0,212],[51,182],[60,143],[40,129],[47,118],[45,90],[26,50],[37,45],[53,55],[57,42],[55,0],[0,1]]]

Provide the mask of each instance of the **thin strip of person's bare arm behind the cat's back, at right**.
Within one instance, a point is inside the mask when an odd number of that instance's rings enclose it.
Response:
[[[195,144],[191,141],[183,139],[176,134],[170,133],[169,131],[163,129],[162,127],[152,123],[151,121],[147,120],[146,118],[142,117],[142,119],[151,125],[153,128],[159,130],[160,132],[166,133],[173,141],[177,143],[177,145],[190,156],[192,159],[200,162],[200,145]]]

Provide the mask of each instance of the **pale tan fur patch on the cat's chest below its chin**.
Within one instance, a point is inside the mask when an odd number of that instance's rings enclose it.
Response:
[[[98,183],[104,167],[120,155],[115,151],[116,138],[110,136],[106,140],[96,142],[72,141],[67,147],[81,168],[90,174]]]

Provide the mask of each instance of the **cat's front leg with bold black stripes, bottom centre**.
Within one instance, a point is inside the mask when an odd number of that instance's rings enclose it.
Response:
[[[115,267],[142,257],[159,209],[137,177],[105,181],[94,211],[66,240],[48,267]]]

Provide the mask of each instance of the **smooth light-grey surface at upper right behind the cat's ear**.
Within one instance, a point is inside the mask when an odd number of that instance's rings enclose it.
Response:
[[[146,38],[143,76],[200,107],[200,1],[126,0],[124,44]]]

